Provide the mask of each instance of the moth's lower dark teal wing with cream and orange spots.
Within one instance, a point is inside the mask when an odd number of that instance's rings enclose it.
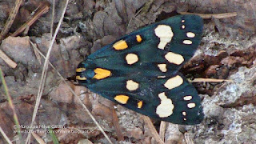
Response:
[[[194,125],[203,119],[198,92],[182,74],[150,80],[106,78],[87,86],[130,110],[161,121]]]

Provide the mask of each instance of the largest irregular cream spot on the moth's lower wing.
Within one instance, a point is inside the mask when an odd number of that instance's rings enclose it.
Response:
[[[156,114],[158,114],[160,118],[169,117],[171,114],[173,114],[173,102],[170,98],[166,97],[165,92],[158,94],[158,97],[161,99],[161,103],[157,107]]]

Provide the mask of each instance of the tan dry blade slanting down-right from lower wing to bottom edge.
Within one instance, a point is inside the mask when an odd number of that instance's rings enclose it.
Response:
[[[144,122],[146,123],[146,126],[149,128],[151,134],[153,135],[154,139],[160,143],[160,144],[164,144],[164,142],[162,141],[162,139],[160,138],[158,131],[155,130],[153,123],[151,122],[150,118],[142,115],[142,118],[144,120]]]

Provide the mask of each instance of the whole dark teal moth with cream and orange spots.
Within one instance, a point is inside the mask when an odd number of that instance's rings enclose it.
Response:
[[[202,122],[197,90],[178,72],[197,50],[203,22],[178,15],[146,26],[90,54],[78,65],[80,85],[161,121]]]

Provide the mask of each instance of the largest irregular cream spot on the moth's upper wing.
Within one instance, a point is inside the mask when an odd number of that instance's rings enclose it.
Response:
[[[154,33],[158,38],[160,38],[158,48],[162,50],[165,49],[166,44],[170,42],[174,36],[171,27],[166,25],[158,25],[158,27],[154,29]]]

